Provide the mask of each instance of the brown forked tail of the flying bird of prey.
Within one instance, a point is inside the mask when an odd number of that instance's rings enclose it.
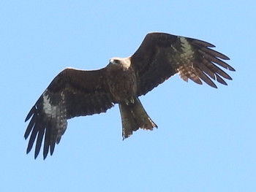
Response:
[[[129,101],[119,104],[122,122],[122,135],[126,139],[132,134],[132,131],[137,131],[138,128],[153,130],[157,125],[149,118],[146,110],[144,110],[138,97],[133,97]]]

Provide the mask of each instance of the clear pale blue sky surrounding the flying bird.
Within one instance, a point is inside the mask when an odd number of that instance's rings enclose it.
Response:
[[[256,191],[255,1],[0,1],[0,191]],[[236,72],[140,97],[159,126],[122,141],[118,106],[74,118],[34,160],[27,113],[62,69],[132,55],[150,31],[203,39]]]

